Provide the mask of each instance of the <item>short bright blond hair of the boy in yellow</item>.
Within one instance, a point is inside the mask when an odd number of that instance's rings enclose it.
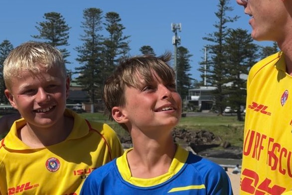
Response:
[[[11,89],[11,79],[20,77],[22,71],[29,71],[35,77],[40,68],[60,69],[64,79],[67,78],[65,62],[61,52],[50,44],[29,41],[15,47],[4,60],[3,77],[6,88]]]

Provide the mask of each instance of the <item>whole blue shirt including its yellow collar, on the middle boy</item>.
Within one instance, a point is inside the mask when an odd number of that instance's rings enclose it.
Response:
[[[131,176],[127,162],[128,151],[95,170],[85,180],[81,195],[233,194],[229,177],[222,167],[180,146],[177,147],[168,173],[151,179]]]

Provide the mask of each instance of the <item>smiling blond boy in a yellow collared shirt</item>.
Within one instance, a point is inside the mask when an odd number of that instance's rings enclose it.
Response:
[[[116,133],[66,109],[59,50],[26,42],[3,64],[5,95],[23,117],[0,141],[0,195],[78,195],[85,178],[123,154]]]

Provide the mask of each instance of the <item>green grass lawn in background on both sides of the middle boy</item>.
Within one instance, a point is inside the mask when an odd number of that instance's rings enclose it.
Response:
[[[120,136],[128,135],[128,132],[116,122],[109,121],[103,113],[82,113],[80,115],[88,120],[109,124]],[[237,121],[236,116],[187,116],[181,118],[176,128],[184,128],[189,131],[210,131],[233,146],[242,147],[243,145],[244,122]],[[0,138],[2,136],[0,135]]]

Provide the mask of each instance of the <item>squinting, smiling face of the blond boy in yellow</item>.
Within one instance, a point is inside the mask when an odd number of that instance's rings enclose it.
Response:
[[[40,69],[34,77],[23,71],[20,76],[12,78],[11,89],[6,89],[5,95],[21,116],[30,125],[43,128],[63,120],[69,96],[69,78],[65,80],[57,68]]]

